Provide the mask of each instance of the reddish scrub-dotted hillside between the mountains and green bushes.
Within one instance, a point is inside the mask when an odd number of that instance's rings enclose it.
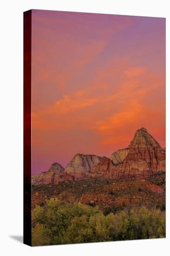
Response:
[[[159,184],[159,185],[157,185]],[[99,206],[104,213],[145,206],[164,208],[165,176],[152,176],[149,180],[117,181],[90,178],[32,187],[32,207],[43,205],[46,199],[58,198],[63,203],[82,202]]]

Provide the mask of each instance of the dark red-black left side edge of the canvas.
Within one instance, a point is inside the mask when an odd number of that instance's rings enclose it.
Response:
[[[24,12],[24,239],[32,246],[31,235],[31,32],[32,10]]]

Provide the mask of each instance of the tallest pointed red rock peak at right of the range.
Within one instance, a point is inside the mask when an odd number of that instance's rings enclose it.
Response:
[[[124,161],[116,167],[123,179],[145,179],[165,171],[165,152],[145,128],[136,131]]]

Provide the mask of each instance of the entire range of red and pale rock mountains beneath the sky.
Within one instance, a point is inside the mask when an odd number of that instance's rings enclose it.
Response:
[[[120,149],[108,157],[76,154],[64,169],[53,163],[47,172],[32,175],[33,185],[66,180],[103,177],[117,180],[147,179],[165,172],[165,148],[147,132],[138,129],[128,148]]]

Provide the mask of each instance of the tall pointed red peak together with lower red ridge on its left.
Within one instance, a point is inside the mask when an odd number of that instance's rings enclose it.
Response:
[[[165,172],[165,151],[145,128],[136,131],[123,162],[115,165],[108,158],[91,170],[91,175],[113,179],[146,179]]]

